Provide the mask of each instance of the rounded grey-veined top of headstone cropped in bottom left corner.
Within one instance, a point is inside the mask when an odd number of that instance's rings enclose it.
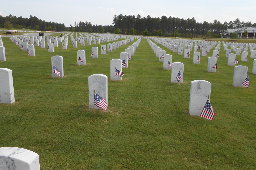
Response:
[[[33,151],[16,148],[0,148],[0,169],[40,170],[39,155]]]

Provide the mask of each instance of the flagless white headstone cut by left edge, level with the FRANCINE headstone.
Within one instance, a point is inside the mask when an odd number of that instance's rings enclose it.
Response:
[[[7,68],[0,68],[0,87],[0,103],[13,103],[15,100],[12,70]]]

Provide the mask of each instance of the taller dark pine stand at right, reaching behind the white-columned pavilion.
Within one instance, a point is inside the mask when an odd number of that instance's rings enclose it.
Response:
[[[115,29],[127,30],[128,34],[132,34],[132,30],[135,30],[136,35],[145,35],[146,33],[147,35],[158,36],[158,32],[161,30],[163,36],[175,36],[177,33],[180,37],[196,37],[206,35],[210,31],[213,36],[220,37],[220,33],[225,32],[228,28],[256,27],[256,22],[252,24],[251,21],[241,22],[239,19],[223,23],[216,19],[212,23],[206,21],[199,23],[194,17],[192,19],[167,18],[166,16],[151,18],[148,15],[142,18],[140,14],[137,16],[120,14],[114,15],[113,18],[112,24],[114,24]]]

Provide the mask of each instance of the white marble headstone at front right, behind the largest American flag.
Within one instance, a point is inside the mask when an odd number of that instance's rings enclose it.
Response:
[[[217,61],[217,59],[216,59]],[[209,96],[209,99],[208,99]],[[189,114],[200,116],[207,99],[210,101],[211,83],[205,80],[191,81],[190,99],[189,99]]]

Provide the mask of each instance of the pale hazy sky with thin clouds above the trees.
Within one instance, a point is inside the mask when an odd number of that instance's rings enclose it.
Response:
[[[161,18],[178,17],[188,19],[194,17],[196,22],[213,22],[217,19],[234,21],[237,18],[240,22],[256,22],[255,2],[225,0],[225,1],[82,1],[82,0],[9,0],[8,5],[2,4],[0,14],[16,17],[29,18],[30,15],[45,21],[64,23],[67,26],[74,25],[74,22],[91,22],[93,25],[111,25],[114,15],[135,15],[143,17],[150,15]],[[223,5],[222,5],[223,4]]]

